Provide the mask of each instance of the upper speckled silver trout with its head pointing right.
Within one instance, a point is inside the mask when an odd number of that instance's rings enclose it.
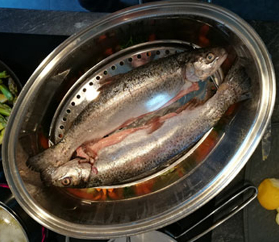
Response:
[[[221,47],[201,48],[146,63],[103,81],[98,97],[77,116],[61,142],[27,160],[43,172],[70,160],[75,149],[112,133],[129,119],[152,112],[193,82],[213,75],[227,58]],[[160,102],[152,100],[160,99]]]

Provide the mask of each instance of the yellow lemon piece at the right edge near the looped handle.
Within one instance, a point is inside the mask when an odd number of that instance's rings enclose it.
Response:
[[[264,179],[259,184],[257,199],[264,209],[279,210],[279,179]]]

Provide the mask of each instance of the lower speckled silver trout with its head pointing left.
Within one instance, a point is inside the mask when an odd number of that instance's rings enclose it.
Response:
[[[45,174],[43,180],[64,188],[109,186],[167,165],[170,158],[195,144],[215,126],[230,105],[247,97],[250,78],[242,63],[242,59],[234,63],[216,94],[203,105],[167,119],[153,133],[139,130],[123,141],[105,147],[98,153],[92,168],[83,168],[80,161],[73,160]],[[73,167],[79,168],[69,172]],[[87,169],[89,176],[81,176],[82,169]]]

